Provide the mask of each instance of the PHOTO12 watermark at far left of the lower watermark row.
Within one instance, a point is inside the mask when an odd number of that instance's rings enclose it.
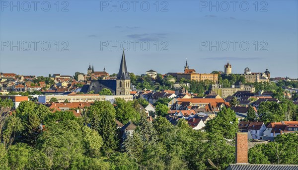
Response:
[[[1,51],[62,51],[69,50],[68,41],[1,41]]]

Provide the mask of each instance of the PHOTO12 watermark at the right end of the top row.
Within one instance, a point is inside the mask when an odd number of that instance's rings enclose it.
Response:
[[[268,11],[265,0],[200,0],[199,5],[200,11]]]

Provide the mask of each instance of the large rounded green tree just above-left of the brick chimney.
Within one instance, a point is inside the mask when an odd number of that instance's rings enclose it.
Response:
[[[236,114],[230,108],[224,108],[218,112],[214,119],[206,123],[205,129],[209,133],[223,134],[224,138],[234,139],[235,133],[238,131],[238,121]]]

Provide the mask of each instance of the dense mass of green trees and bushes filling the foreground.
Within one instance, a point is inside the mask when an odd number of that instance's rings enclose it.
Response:
[[[227,139],[234,139],[237,121],[229,108],[208,121],[207,132],[201,132],[193,130],[184,119],[176,126],[161,116],[150,122],[136,109],[138,101],[117,102],[113,105],[95,101],[85,108],[82,118],[71,111],[51,112],[32,101],[21,102],[15,113],[5,119],[4,131],[0,131],[0,169],[224,170],[234,163],[234,143]],[[287,102],[262,109],[284,109],[288,113],[297,110]],[[161,101],[157,105],[162,104]],[[1,100],[0,106],[2,111],[12,102]],[[126,139],[117,130],[117,114],[124,121],[135,120],[137,125]],[[11,138],[12,132],[18,134],[15,139]],[[13,143],[6,145],[10,139]],[[280,135],[275,142],[250,149],[249,162],[298,164],[297,145],[297,134]]]

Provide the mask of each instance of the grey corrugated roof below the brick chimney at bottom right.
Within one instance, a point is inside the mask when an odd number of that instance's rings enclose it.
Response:
[[[230,164],[225,170],[298,170],[298,165]]]

